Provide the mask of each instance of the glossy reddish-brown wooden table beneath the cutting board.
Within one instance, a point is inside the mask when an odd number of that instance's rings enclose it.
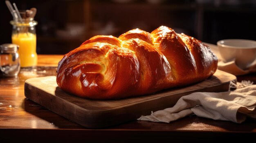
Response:
[[[171,123],[131,121],[110,128],[88,129],[26,99],[24,82],[38,76],[56,75],[63,55],[38,55],[36,71],[21,71],[17,78],[0,79],[0,142],[131,142],[131,141],[247,141],[256,135],[256,121],[237,124],[191,115]],[[239,76],[251,80],[254,74]]]

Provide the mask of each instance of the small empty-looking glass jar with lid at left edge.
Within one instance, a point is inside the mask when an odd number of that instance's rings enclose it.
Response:
[[[15,77],[20,72],[19,46],[16,44],[2,44],[0,46],[1,75]]]

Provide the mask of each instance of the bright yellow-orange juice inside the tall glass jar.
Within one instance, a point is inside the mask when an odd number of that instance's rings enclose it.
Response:
[[[19,45],[20,67],[33,67],[37,64],[36,34],[15,33],[11,36],[13,44]]]

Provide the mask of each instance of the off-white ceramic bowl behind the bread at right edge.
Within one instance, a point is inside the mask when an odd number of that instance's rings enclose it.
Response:
[[[256,60],[256,41],[226,39],[217,42],[223,62],[235,61],[242,69],[248,68]]]

